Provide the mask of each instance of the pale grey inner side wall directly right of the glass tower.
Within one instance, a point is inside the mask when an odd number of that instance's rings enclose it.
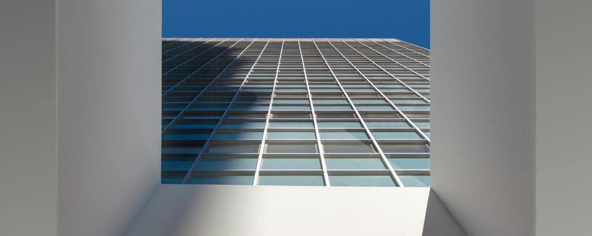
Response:
[[[432,188],[467,235],[534,235],[533,1],[432,1]]]

